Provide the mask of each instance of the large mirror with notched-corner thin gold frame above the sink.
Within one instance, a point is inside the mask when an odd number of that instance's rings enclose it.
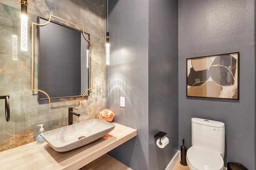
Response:
[[[38,23],[32,22],[31,32],[32,92],[38,101],[56,104],[89,96],[94,43],[84,27],[50,15],[49,20],[38,17]]]

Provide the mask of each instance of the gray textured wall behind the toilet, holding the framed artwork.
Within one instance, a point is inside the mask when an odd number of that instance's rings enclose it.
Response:
[[[227,162],[255,168],[254,0],[180,0],[179,143],[191,146],[191,118],[222,121]],[[186,97],[186,58],[240,52],[240,100]]]

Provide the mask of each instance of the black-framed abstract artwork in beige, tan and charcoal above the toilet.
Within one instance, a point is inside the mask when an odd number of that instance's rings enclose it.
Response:
[[[187,59],[187,96],[239,100],[239,52]]]

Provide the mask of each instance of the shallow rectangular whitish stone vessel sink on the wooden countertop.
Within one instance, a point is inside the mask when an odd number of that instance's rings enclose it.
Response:
[[[108,134],[116,125],[91,119],[42,133],[44,140],[56,151],[65,152],[82,147]]]

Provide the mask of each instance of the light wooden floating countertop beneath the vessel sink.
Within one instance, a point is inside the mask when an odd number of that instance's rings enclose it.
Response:
[[[36,142],[0,152],[0,170],[78,170],[137,135],[136,129],[115,124],[104,137],[67,152],[57,152],[47,143]]]

